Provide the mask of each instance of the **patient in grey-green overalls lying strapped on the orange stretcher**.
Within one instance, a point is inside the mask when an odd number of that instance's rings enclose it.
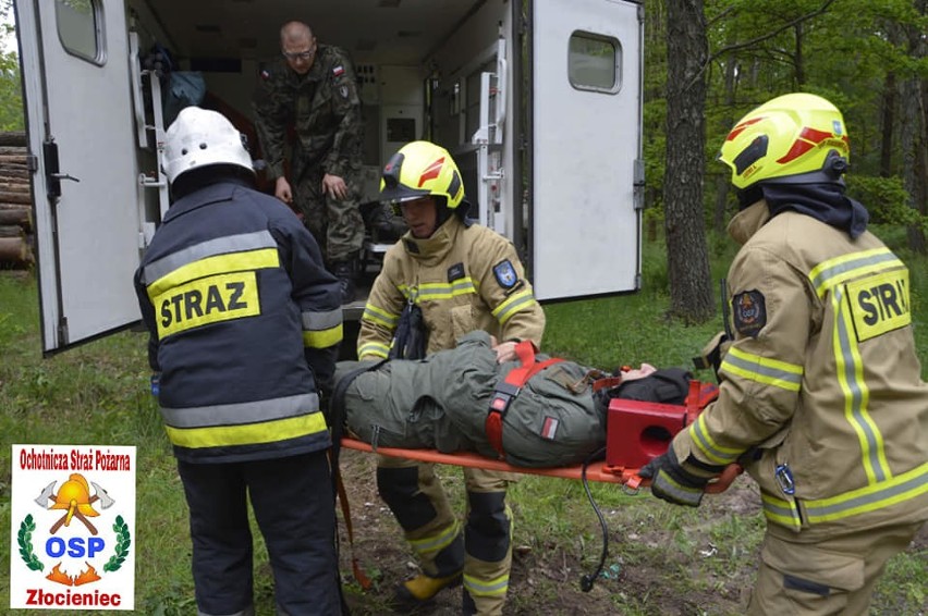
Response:
[[[334,396],[343,397],[333,408],[344,409],[353,436],[375,447],[476,452],[512,466],[552,468],[586,461],[605,446],[612,397],[682,404],[686,395],[682,369],[661,371],[679,380],[672,392],[648,397],[656,390],[638,387],[639,396],[627,390],[644,384],[651,366],[623,372],[619,384],[600,380],[611,377],[600,370],[545,355],[499,364],[494,342],[475,331],[426,359],[339,362]],[[524,380],[533,366],[544,367]],[[594,383],[610,386],[594,391]]]

